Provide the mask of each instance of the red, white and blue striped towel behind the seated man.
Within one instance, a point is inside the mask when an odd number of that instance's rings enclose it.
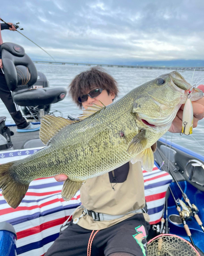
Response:
[[[0,164],[22,159],[39,148],[14,150],[0,154]],[[166,190],[172,177],[156,166],[151,173],[143,170],[145,198],[150,224],[162,218]],[[63,182],[54,178],[41,178],[31,182],[20,205],[13,209],[4,200],[0,191],[1,222],[11,223],[17,233],[17,255],[42,256],[59,236],[63,222],[81,204],[80,191],[70,201],[61,198]]]

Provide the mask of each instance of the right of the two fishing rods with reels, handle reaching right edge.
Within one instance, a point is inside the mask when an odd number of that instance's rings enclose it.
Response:
[[[162,159],[164,159],[164,154],[163,154],[159,149],[157,149],[157,152],[159,153],[160,157],[161,157]],[[182,189],[182,187],[180,186],[179,182],[178,182],[178,181],[176,180],[176,178],[175,178],[175,175],[174,175],[174,173],[173,173],[173,170],[177,170],[177,168],[176,168],[170,161],[169,161],[169,166],[167,166],[167,164],[163,162],[160,168],[163,169],[163,170],[165,170],[165,172],[167,172],[167,173],[169,172],[170,175],[173,177],[173,179],[174,179],[176,185],[179,187],[179,189],[180,189],[180,191],[181,191],[181,193],[182,193],[182,196],[183,196],[185,202],[186,202],[186,203],[188,204],[188,206],[190,207],[190,209],[191,209],[191,211],[192,211],[192,214],[193,214],[195,220],[197,221],[198,225],[200,226],[200,228],[201,228],[202,231],[204,232],[204,227],[203,227],[203,225],[202,225],[202,222],[201,222],[199,216],[197,215],[197,213],[198,213],[198,211],[199,211],[198,208],[197,208],[197,206],[196,206],[195,204],[191,204],[189,198],[188,198],[187,195],[184,193],[184,190]]]

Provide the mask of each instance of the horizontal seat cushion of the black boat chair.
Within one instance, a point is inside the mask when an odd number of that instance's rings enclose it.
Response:
[[[63,100],[67,94],[64,87],[23,89],[12,93],[13,101],[19,106],[49,105]]]

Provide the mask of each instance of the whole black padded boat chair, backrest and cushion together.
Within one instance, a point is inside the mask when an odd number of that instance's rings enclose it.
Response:
[[[5,42],[1,51],[4,74],[13,101],[22,107],[26,118],[39,121],[44,112],[49,112],[50,104],[65,98],[66,88],[49,88],[45,75],[36,70],[21,46]]]

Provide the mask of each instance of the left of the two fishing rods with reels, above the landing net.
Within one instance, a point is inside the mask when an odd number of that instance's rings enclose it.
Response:
[[[176,199],[175,199],[175,196],[173,195],[173,191],[171,190],[171,187],[169,186],[169,191],[173,197],[173,200],[175,202],[175,205],[176,205],[176,210],[179,212],[179,216],[180,218],[182,219],[183,221],[183,225],[184,225],[184,229],[186,230],[186,233],[187,233],[187,236],[189,237],[193,247],[195,247],[195,244],[193,242],[193,239],[192,239],[192,235],[191,235],[191,231],[189,229],[189,226],[188,224],[186,223],[186,220],[190,218],[190,214],[189,214],[189,211],[182,208],[181,209],[181,206],[179,203],[177,203]],[[180,201],[179,201],[180,202]],[[185,203],[184,203],[185,204]]]

